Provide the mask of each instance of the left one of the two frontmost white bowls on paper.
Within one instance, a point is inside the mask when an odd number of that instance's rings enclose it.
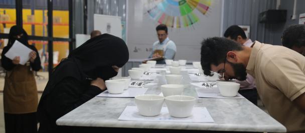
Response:
[[[164,96],[157,94],[141,94],[134,97],[136,107],[141,115],[159,115],[164,103]]]

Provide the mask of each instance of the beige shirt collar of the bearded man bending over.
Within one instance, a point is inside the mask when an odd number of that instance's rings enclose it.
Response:
[[[254,41],[254,43],[252,44],[252,50],[251,50],[251,54],[249,57],[249,61],[248,61],[248,65],[246,67],[246,71],[247,73],[249,73],[250,75],[252,75],[255,78],[254,75],[254,67],[255,67],[255,59],[256,59],[256,55],[259,51],[259,49],[262,47],[262,43],[258,42],[258,41]]]

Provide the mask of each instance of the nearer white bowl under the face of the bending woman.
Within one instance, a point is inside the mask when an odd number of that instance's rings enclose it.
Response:
[[[122,93],[125,88],[126,81],[123,79],[106,80],[105,85],[109,93]]]

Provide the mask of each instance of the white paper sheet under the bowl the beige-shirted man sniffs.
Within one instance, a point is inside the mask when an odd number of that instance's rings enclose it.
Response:
[[[208,97],[208,98],[229,98],[229,99],[244,99],[245,97],[237,93],[234,97],[225,97],[220,94],[217,87],[212,88],[196,88],[198,97]]]

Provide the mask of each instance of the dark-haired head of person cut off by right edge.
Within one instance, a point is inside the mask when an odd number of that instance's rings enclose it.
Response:
[[[282,44],[305,56],[305,25],[292,24],[282,35]]]

